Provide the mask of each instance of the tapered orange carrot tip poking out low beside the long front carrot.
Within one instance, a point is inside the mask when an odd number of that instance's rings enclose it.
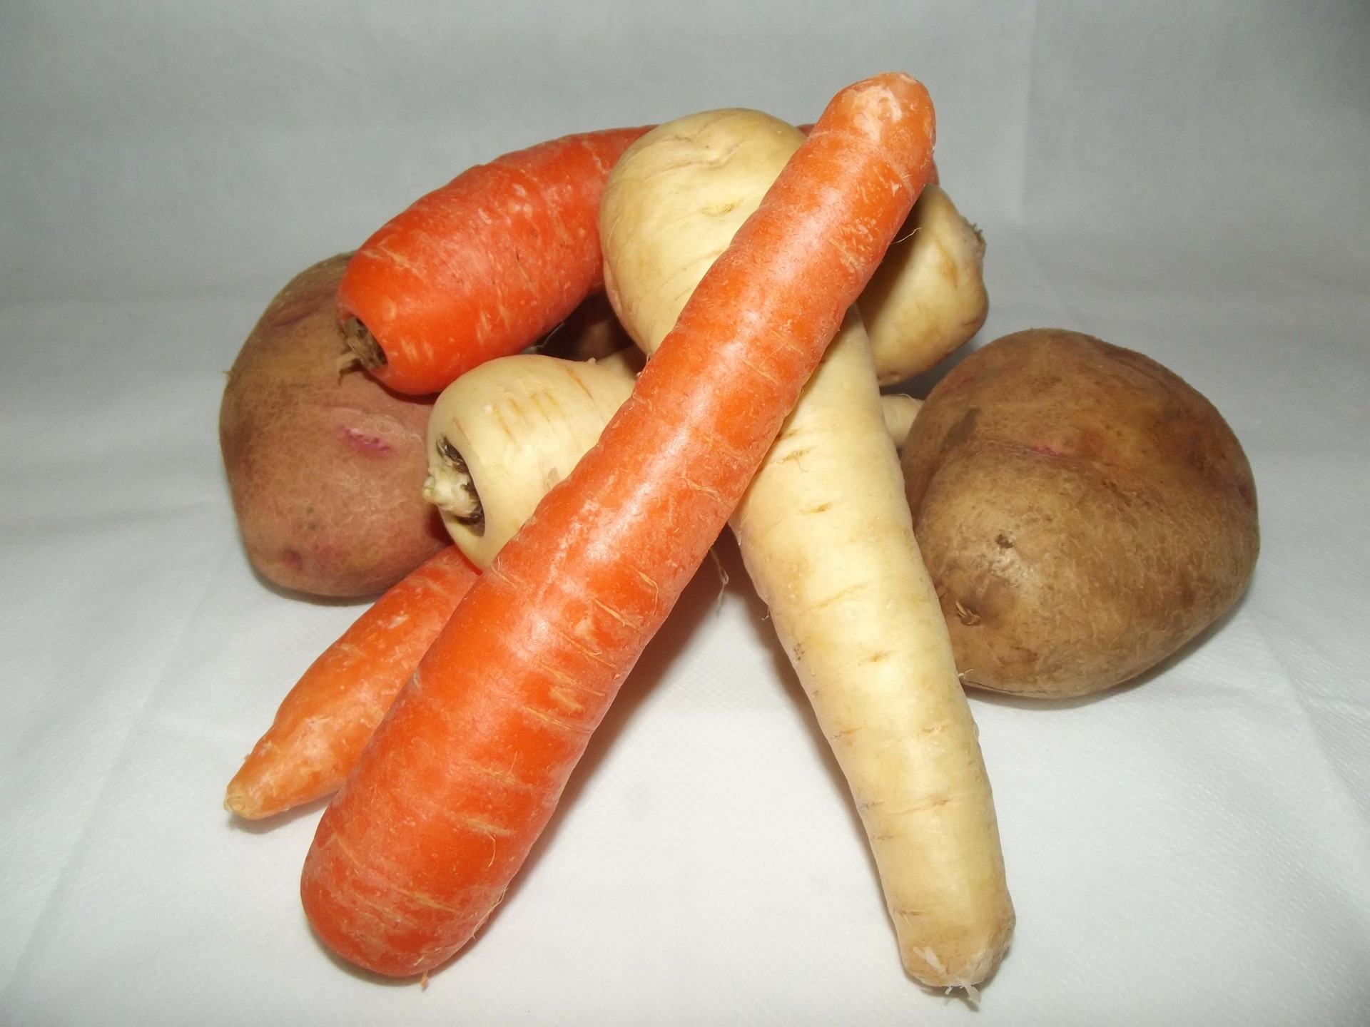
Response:
[[[478,576],[451,545],[381,596],[290,689],[225,807],[256,820],[336,791]]]

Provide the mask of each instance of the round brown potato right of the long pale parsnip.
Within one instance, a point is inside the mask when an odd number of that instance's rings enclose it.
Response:
[[[1251,467],[1218,411],[1075,331],[966,357],[918,412],[903,466],[967,685],[1119,685],[1221,616],[1256,561]]]

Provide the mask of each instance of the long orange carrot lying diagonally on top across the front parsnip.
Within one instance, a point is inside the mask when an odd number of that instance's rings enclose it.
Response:
[[[932,138],[907,75],[838,93],[599,445],[458,605],[306,859],[306,913],[338,954],[421,974],[500,901],[912,207]]]

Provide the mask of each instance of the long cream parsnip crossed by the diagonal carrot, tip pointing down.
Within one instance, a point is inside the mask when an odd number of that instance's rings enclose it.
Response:
[[[763,114],[715,111],[619,159],[600,208],[604,278],[648,353],[800,141]],[[860,811],[906,971],[973,991],[1008,943],[1012,904],[855,311],[732,524]]]

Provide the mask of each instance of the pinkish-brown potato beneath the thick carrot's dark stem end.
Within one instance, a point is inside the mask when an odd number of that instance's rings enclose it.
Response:
[[[296,275],[229,371],[219,445],[252,566],[275,585],[362,597],[447,544],[422,497],[434,397],[341,372],[337,283],[349,255]]]

